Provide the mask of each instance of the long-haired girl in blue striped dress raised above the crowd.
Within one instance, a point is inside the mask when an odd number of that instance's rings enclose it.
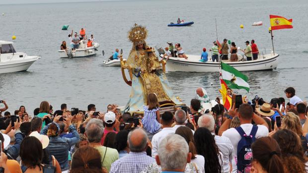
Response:
[[[159,104],[156,94],[148,94],[148,106],[144,106],[144,117],[142,118],[142,123],[144,129],[151,134],[155,134],[160,129],[159,123]]]

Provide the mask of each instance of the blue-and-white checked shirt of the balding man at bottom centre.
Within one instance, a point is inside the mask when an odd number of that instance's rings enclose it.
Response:
[[[109,173],[140,173],[155,162],[146,152],[130,152],[127,156],[115,161]]]

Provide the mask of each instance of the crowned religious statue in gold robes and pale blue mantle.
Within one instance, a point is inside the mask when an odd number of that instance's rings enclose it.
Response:
[[[146,44],[147,29],[135,24],[128,37],[133,48],[127,61],[124,63],[122,60],[121,67],[123,78],[132,86],[132,91],[124,112],[143,111],[149,93],[156,94],[160,107],[182,104],[173,95],[154,49]],[[124,68],[130,71],[131,82],[127,81]]]

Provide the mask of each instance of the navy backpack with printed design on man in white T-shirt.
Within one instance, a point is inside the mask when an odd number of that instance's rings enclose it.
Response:
[[[241,136],[237,144],[237,173],[250,173],[252,150],[251,144],[256,140],[255,135],[258,130],[258,126],[253,125],[250,135],[247,136],[244,130],[239,126],[235,128]]]

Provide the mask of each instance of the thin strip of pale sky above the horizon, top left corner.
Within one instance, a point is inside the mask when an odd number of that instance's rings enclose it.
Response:
[[[0,0],[0,4],[52,3],[52,2],[85,2],[85,1],[109,1],[109,0]]]

